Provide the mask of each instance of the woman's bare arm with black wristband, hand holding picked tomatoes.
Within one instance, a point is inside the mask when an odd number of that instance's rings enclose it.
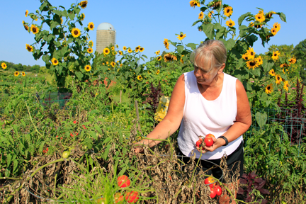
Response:
[[[236,81],[236,94],[237,94],[237,116],[236,121],[232,125],[227,132],[223,134],[228,140],[228,142],[232,142],[236,140],[240,135],[244,134],[246,130],[251,126],[251,109],[249,106],[249,99],[247,98],[246,91],[244,90],[244,86],[237,79]],[[220,136],[220,135],[219,135]],[[223,139],[215,139],[214,145],[211,147],[205,147],[206,150],[212,152],[218,147],[225,145],[225,140]]]

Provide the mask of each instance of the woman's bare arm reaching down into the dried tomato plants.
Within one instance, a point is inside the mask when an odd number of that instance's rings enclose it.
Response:
[[[183,118],[183,107],[185,104],[185,79],[184,74],[179,77],[172,91],[168,112],[157,127],[152,130],[152,132],[147,135],[147,138],[152,139],[166,139],[169,135],[172,135],[176,130],[179,129],[181,125],[181,120]],[[160,141],[153,141],[144,139],[137,144],[149,145],[153,147],[157,145]],[[136,148],[135,152],[141,152],[141,148]]]

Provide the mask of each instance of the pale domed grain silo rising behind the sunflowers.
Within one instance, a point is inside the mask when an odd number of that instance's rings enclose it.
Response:
[[[96,33],[96,51],[103,53],[103,49],[109,45],[115,45],[116,31],[111,23],[101,23]]]

